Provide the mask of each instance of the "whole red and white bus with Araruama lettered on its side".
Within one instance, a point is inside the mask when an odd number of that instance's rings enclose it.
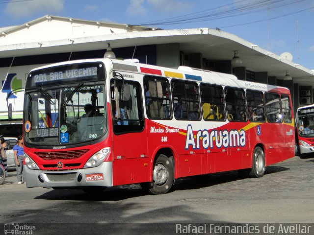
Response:
[[[93,59],[30,71],[24,99],[26,187],[140,183],[265,166],[294,156],[289,90],[234,75]]]

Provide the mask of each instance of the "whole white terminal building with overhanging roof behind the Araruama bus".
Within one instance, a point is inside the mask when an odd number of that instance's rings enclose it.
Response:
[[[0,135],[22,133],[24,86],[30,70],[61,61],[117,58],[234,74],[240,80],[288,87],[294,111],[313,103],[314,71],[219,29],[160,28],[44,16],[0,28]],[[12,118],[8,106],[12,105]]]

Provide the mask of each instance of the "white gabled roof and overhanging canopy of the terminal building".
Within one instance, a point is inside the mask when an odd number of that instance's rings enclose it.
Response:
[[[249,71],[267,72],[283,79],[286,71],[294,83],[309,85],[314,71],[293,63],[254,43],[219,29],[159,28],[44,16],[26,24],[0,28],[0,58],[179,43],[185,54],[202,53],[210,61],[231,60],[234,51]],[[236,66],[235,66],[236,67]]]

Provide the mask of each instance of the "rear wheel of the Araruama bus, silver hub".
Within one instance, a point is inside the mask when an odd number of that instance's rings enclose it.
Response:
[[[265,154],[261,147],[255,147],[252,158],[252,169],[249,173],[250,178],[261,178],[265,173]]]

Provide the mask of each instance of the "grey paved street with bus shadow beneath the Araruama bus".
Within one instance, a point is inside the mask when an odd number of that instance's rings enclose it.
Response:
[[[261,179],[237,172],[176,181],[175,190],[146,195],[138,185],[90,195],[81,190],[26,188],[15,171],[0,186],[1,223],[314,221],[314,158],[294,157],[266,168]],[[1,231],[0,231],[1,232]]]

